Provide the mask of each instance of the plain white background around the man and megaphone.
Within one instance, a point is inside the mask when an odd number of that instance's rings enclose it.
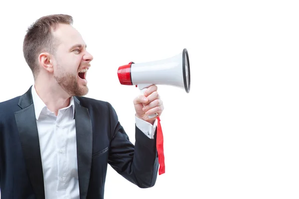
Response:
[[[187,48],[191,90],[159,85],[166,173],[139,189],[109,167],[106,199],[299,198],[299,6],[296,0],[51,0],[0,6],[0,101],[33,83],[26,28],[66,13],[94,60],[88,97],[109,101],[134,142],[134,86],[119,66]]]

